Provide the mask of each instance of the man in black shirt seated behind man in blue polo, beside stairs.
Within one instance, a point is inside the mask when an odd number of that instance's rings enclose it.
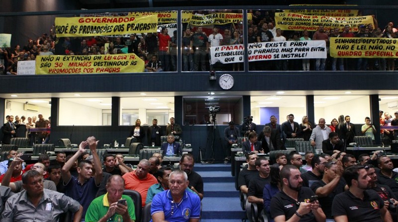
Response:
[[[191,153],[186,153],[181,157],[180,170],[183,170],[188,175],[189,188],[197,193],[200,200],[203,199],[203,180],[202,177],[192,169],[194,168],[194,156]]]

